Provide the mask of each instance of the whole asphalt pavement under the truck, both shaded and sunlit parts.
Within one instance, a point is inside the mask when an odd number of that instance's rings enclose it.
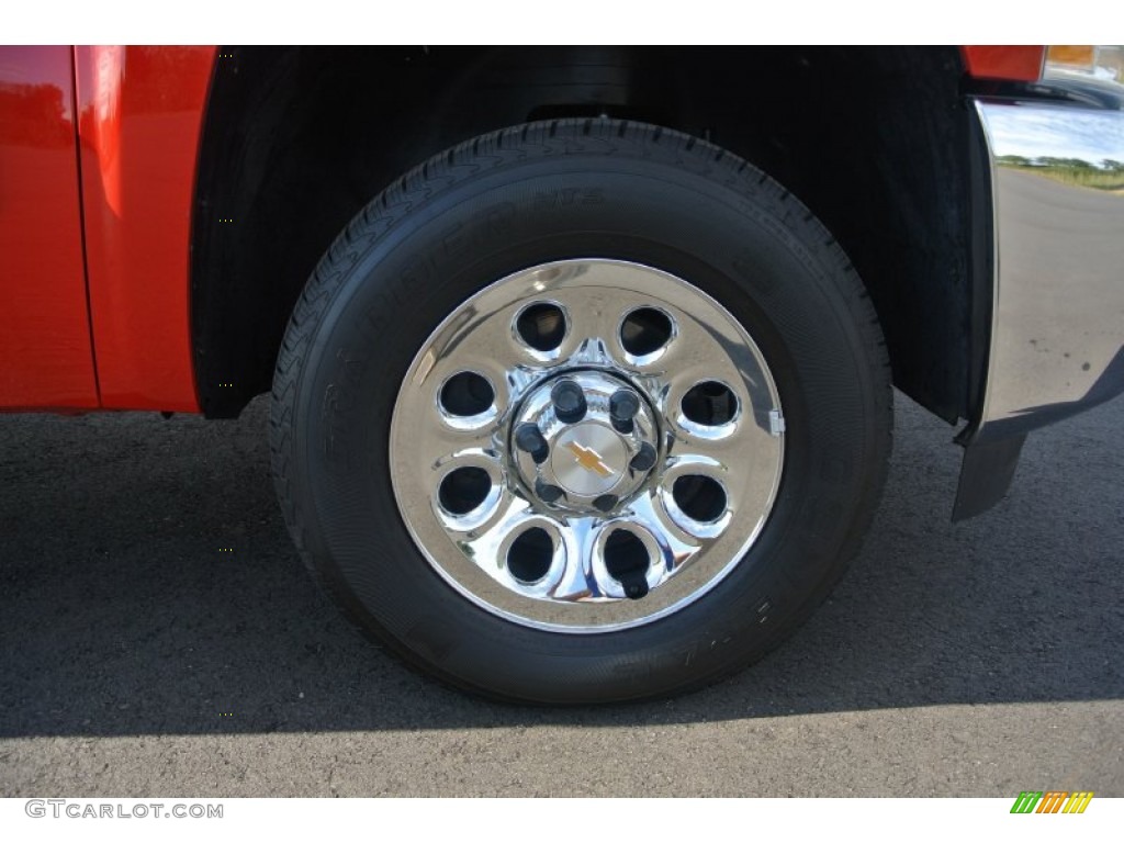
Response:
[[[265,399],[0,416],[0,796],[1124,796],[1124,400],[951,524],[897,396],[873,531],[787,645],[697,694],[520,708],[401,667],[308,579]]]

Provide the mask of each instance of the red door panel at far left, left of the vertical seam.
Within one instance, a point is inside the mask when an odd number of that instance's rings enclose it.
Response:
[[[98,406],[70,47],[0,51],[0,407]]]

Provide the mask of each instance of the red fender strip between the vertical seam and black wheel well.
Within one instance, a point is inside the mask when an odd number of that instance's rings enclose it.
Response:
[[[198,411],[191,211],[215,47],[78,47],[101,406]]]

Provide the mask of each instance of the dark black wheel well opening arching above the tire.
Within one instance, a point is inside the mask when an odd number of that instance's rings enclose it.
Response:
[[[269,390],[305,282],[395,179],[493,129],[600,115],[707,138],[791,190],[863,279],[896,384],[950,422],[968,415],[980,293],[955,49],[223,53],[234,57],[215,71],[192,238],[192,336],[209,417],[235,416]]]

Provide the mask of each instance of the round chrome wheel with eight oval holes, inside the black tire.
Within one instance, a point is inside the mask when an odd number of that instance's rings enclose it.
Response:
[[[496,281],[426,339],[395,402],[391,484],[465,598],[609,632],[683,608],[742,562],[783,429],[761,351],[707,293],[651,266],[561,261]]]

